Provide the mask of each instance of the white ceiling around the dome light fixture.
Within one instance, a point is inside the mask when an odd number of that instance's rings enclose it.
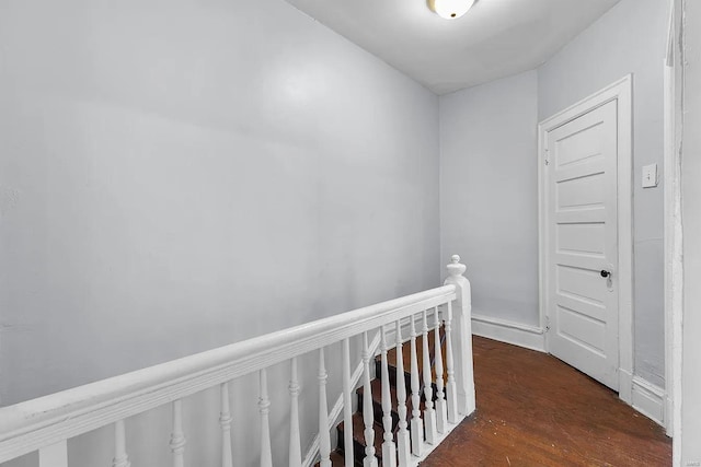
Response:
[[[619,0],[478,0],[444,20],[426,0],[287,0],[437,94],[547,61]]]

